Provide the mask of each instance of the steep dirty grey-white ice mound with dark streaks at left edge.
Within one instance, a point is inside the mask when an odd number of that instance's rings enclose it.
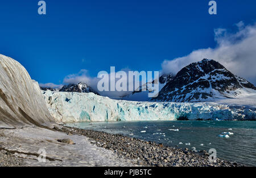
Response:
[[[0,128],[44,127],[51,122],[38,82],[17,61],[0,55]]]

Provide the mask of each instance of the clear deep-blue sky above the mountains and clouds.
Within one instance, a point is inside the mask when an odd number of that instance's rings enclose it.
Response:
[[[232,33],[256,20],[256,1],[216,2],[209,15],[208,0],[46,0],[39,15],[37,0],[1,1],[0,53],[40,83],[62,84],[81,69],[96,77],[110,66],[158,71],[164,60],[216,48],[214,29]]]

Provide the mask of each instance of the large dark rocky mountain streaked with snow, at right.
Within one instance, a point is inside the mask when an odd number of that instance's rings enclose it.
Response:
[[[204,59],[181,69],[169,80],[153,101],[210,101],[214,98],[233,98],[256,88],[244,78],[235,76],[214,60]]]

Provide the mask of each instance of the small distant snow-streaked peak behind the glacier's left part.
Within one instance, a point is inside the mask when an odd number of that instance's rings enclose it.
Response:
[[[96,92],[95,90],[93,90],[89,85],[85,84],[84,82],[79,82],[79,84],[69,84],[69,85],[65,85],[63,86],[63,88],[61,88],[59,90],[59,92],[78,92],[78,93],[95,93],[97,95],[98,92]]]

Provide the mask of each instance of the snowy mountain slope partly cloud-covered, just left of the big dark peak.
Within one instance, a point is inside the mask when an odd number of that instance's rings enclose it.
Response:
[[[159,91],[167,84],[167,82],[171,81],[172,78],[174,78],[174,74],[172,73],[163,74],[162,76],[160,76]],[[148,98],[148,92],[154,92],[154,86],[152,85],[154,85],[155,82],[157,82],[156,80],[152,82],[147,82],[146,84],[139,86],[139,89],[137,89],[137,91],[135,90],[133,93],[130,93],[129,95],[124,96],[121,99],[128,101],[149,101],[150,98]],[[152,87],[148,87],[148,84],[151,84]]]

